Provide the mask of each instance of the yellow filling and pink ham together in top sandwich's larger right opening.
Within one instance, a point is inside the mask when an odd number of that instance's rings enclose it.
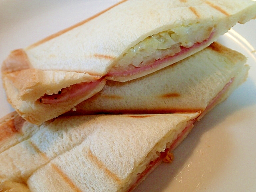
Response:
[[[129,76],[155,68],[188,50],[206,44],[213,33],[212,26],[191,24],[148,36],[123,54],[108,76]]]

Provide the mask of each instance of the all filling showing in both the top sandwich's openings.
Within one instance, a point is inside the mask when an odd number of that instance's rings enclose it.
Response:
[[[188,50],[197,48],[210,40],[213,27],[202,30],[201,25],[191,24],[154,34],[130,48],[107,76],[129,76],[155,68]],[[57,104],[89,92],[99,82],[86,82],[63,88],[57,94],[45,94],[38,101]]]

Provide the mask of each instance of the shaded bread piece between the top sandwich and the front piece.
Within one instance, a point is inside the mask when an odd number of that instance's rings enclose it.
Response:
[[[249,66],[239,52],[214,42],[204,50],[129,82],[107,81],[67,114],[204,112],[246,80]],[[218,99],[220,98],[220,99]]]

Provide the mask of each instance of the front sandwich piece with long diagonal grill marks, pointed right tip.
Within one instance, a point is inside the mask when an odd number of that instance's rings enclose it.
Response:
[[[165,149],[174,150],[199,115],[59,117],[0,153],[0,178],[31,192],[127,191],[151,161],[170,157]]]

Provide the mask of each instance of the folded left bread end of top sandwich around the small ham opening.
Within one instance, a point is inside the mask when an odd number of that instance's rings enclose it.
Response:
[[[42,124],[69,111],[102,90],[106,83],[106,80],[88,74],[34,68],[5,74],[2,79],[8,102],[22,118],[34,124]],[[74,90],[80,85],[88,88]],[[63,101],[58,98],[72,88],[73,96],[71,93]],[[42,102],[45,98],[53,102]]]

